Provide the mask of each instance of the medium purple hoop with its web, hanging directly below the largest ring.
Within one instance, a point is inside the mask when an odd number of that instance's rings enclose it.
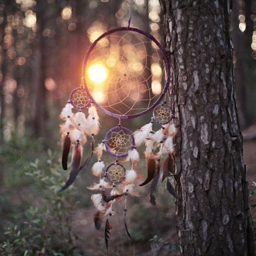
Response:
[[[112,136],[109,138],[109,135],[111,135],[115,131],[118,131],[118,138],[112,138]],[[123,132],[123,134],[120,135],[119,132]],[[106,133],[104,138],[104,144],[107,152],[110,155],[113,155],[113,157],[121,158],[126,157],[128,155],[128,151],[132,150],[135,147],[135,139],[129,129],[120,125],[113,127]],[[129,145],[125,146],[126,144]]]

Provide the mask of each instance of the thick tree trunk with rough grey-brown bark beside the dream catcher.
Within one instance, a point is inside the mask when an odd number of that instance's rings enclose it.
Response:
[[[160,0],[176,124],[182,255],[254,255],[229,0]]]

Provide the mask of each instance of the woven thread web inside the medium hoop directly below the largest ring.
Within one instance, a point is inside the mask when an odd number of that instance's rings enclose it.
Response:
[[[109,134],[109,150],[116,155],[126,154],[132,147],[132,138],[123,129],[115,130]]]

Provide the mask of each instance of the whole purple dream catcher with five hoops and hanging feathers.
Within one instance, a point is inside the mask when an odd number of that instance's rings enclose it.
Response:
[[[132,3],[132,1],[131,1]],[[97,212],[95,228],[99,230],[103,218],[105,242],[112,226],[109,218],[114,214],[113,206],[124,201],[124,225],[127,212],[127,196],[139,196],[136,184],[150,184],[150,202],[155,205],[155,192],[160,181],[167,180],[167,190],[176,197],[169,181],[174,172],[173,138],[177,129],[173,124],[173,109],[169,103],[170,67],[163,47],[151,34],[130,27],[110,30],[98,37],[90,46],[83,62],[82,85],[72,91],[60,117],[65,121],[60,128],[63,137],[63,169],[67,170],[69,150],[73,144],[71,173],[64,191],[75,180],[80,171],[86,169],[93,152],[97,162],[92,173],[97,182],[89,187],[98,191],[91,196]],[[101,67],[104,79],[92,79],[92,67]],[[102,74],[98,74],[100,77]],[[76,111],[73,111],[76,109]],[[116,118],[117,125],[101,138],[94,148],[94,136],[99,132],[97,110]],[[131,131],[121,124],[123,119],[142,117],[152,112],[140,129]],[[106,126],[101,121],[101,126]],[[82,163],[83,145],[91,138],[91,153]],[[136,165],[140,161],[137,149],[144,146],[147,177],[141,182]],[[113,160],[105,156],[109,155]],[[106,159],[106,160],[105,160]]]

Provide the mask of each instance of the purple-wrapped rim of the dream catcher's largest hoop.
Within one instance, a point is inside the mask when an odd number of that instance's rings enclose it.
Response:
[[[158,48],[161,50],[162,54],[163,54],[163,58],[165,60],[165,64],[166,64],[166,82],[165,82],[165,86],[163,87],[163,91],[161,93],[161,95],[159,96],[159,98],[157,99],[157,101],[155,101],[153,103],[153,105],[151,105],[148,109],[146,110],[143,110],[142,112],[140,113],[136,113],[136,114],[129,114],[129,115],[121,115],[121,114],[116,114],[116,113],[112,113],[104,108],[102,108],[93,98],[93,96],[90,94],[90,91],[86,85],[86,65],[87,65],[87,61],[89,59],[89,56],[90,56],[90,53],[91,51],[93,50],[94,46],[97,44],[97,42],[102,39],[103,37],[106,37],[107,35],[110,35],[110,34],[113,34],[115,32],[118,32],[118,31],[132,31],[132,32],[137,32],[139,34],[142,34],[142,35],[145,35],[146,37],[148,37],[149,39],[151,39],[157,46]],[[82,68],[82,76],[83,76],[83,81],[84,81],[84,89],[86,90],[87,92],[87,95],[88,97],[91,99],[91,101],[93,101],[94,105],[100,109],[103,113],[105,114],[108,114],[109,116],[112,116],[112,117],[116,117],[116,118],[120,118],[120,119],[128,119],[128,118],[135,118],[135,117],[139,117],[139,116],[142,116],[143,114],[146,114],[148,112],[150,112],[152,109],[155,108],[155,106],[157,106],[159,104],[159,102],[161,101],[161,99],[163,98],[163,96],[166,94],[166,91],[169,87],[169,83],[170,83],[170,64],[169,64],[169,60],[168,60],[168,57],[167,57],[167,54],[165,52],[165,50],[163,49],[163,46],[157,41],[157,39],[155,39],[153,37],[153,35],[151,34],[148,34],[146,33],[145,31],[143,30],[140,30],[140,29],[136,29],[136,28],[133,28],[133,27],[120,27],[120,28],[117,28],[117,29],[112,29],[112,30],[109,30],[107,32],[105,32],[104,34],[102,34],[101,36],[99,36],[90,46],[90,48],[88,49],[87,53],[86,53],[86,56],[84,57],[84,61],[83,61],[83,68]]]

